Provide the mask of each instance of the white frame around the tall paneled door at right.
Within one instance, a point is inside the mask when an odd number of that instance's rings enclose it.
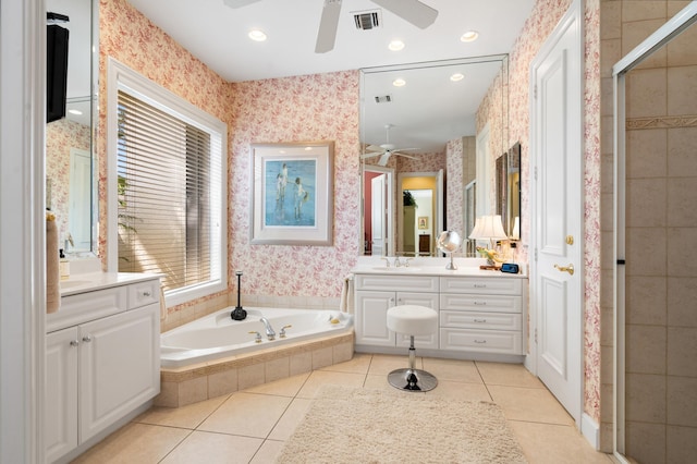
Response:
[[[580,99],[580,105],[579,108],[583,108],[583,83],[584,83],[584,77],[583,77],[583,60],[584,60],[584,23],[583,23],[583,11],[584,11],[584,1],[583,0],[574,0],[572,2],[572,4],[570,5],[568,10],[566,11],[566,13],[564,14],[564,16],[559,21],[559,24],[557,25],[557,27],[554,28],[554,30],[549,35],[549,37],[547,38],[547,40],[545,41],[545,44],[540,47],[540,49],[537,52],[536,58],[533,59],[531,63],[530,63],[530,78],[529,78],[529,83],[528,83],[528,89],[529,89],[529,95],[534,96],[536,94],[536,83],[535,83],[535,65],[536,63],[539,62],[540,57],[543,57],[545,54],[547,54],[549,52],[549,49],[551,49],[561,38],[562,36],[566,33],[566,30],[568,29],[570,24],[572,23],[576,23],[575,26],[579,28],[578,32],[578,38],[577,38],[577,58],[580,60],[582,64],[580,64],[580,69],[582,69],[582,76],[580,76],[580,96],[576,96],[576,95],[568,95],[568,98],[579,98]],[[531,97],[529,99],[529,113],[530,113],[530,127],[529,127],[529,144],[530,144],[530,148],[529,148],[529,154],[530,154],[530,169],[528,170],[528,185],[531,185],[531,187],[529,188],[529,194],[530,194],[530,218],[531,218],[531,222],[530,224],[533,224],[530,227],[530,245],[531,245],[531,256],[529,259],[529,266],[530,266],[530,271],[529,271],[529,285],[530,285],[530,292],[529,292],[529,308],[528,308],[528,317],[529,317],[529,332],[528,332],[528,346],[529,346],[529,352],[528,355],[525,358],[524,365],[525,367],[533,373],[534,375],[538,375],[538,350],[537,350],[537,330],[539,327],[539,320],[538,320],[538,302],[537,302],[537,281],[540,279],[540,271],[537,267],[537,243],[539,240],[539,231],[538,231],[538,227],[535,227],[535,224],[538,224],[541,221],[541,218],[539,217],[540,215],[540,204],[541,204],[541,199],[538,197],[538,193],[537,193],[537,173],[538,173],[538,166],[540,164],[540,160],[539,160],[539,154],[540,150],[538,148],[539,146],[539,141],[537,139],[537,135],[536,135],[536,127],[535,127],[535,119],[533,118],[534,114],[536,114],[537,110],[535,109],[535,105],[536,105],[536,99],[534,97]],[[570,115],[573,117],[573,115]],[[578,138],[582,141],[583,143],[583,132],[584,132],[584,119],[583,119],[583,113],[579,112],[578,114],[575,115],[577,118],[577,124],[575,124],[579,131],[578,134]],[[583,163],[583,147],[580,149],[580,159],[577,159],[577,163],[579,166],[580,169],[578,169],[578,175],[582,178],[580,179],[580,192],[579,192],[579,207],[577,210],[577,221],[579,223],[579,230],[580,230],[580,236],[583,236],[583,231],[585,230],[585,222],[584,222],[584,192],[583,192],[583,176],[584,176],[584,163]],[[578,241],[578,246],[579,246],[579,269],[577,270],[578,272],[578,277],[580,279],[580,292],[583,294],[583,290],[584,290],[584,274],[585,274],[585,267],[583,266],[584,264],[584,242],[583,240]],[[576,423],[576,427],[578,428],[578,430],[580,430],[584,436],[588,437],[588,436],[597,436],[598,434],[598,426],[596,425],[596,430],[584,430],[585,428],[587,428],[586,426],[584,426],[584,424],[587,422],[585,420],[585,413],[584,413],[584,319],[583,319],[583,315],[584,315],[584,306],[583,306],[583,298],[579,302],[580,305],[580,312],[579,312],[579,333],[575,334],[575,339],[578,340],[577,346],[576,346],[576,352],[578,353],[578,355],[580,356],[580,373],[579,373],[579,384],[577,386],[578,389],[578,403],[579,403],[579,414],[578,417],[575,417],[574,420]],[[588,427],[590,427],[590,423],[588,422]],[[589,441],[591,442],[591,444],[596,448],[598,448],[598,440],[594,440],[594,439],[589,439]]]

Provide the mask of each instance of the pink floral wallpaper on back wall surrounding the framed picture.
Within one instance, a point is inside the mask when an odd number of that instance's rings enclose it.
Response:
[[[231,271],[245,274],[243,293],[339,296],[360,246],[357,71],[233,85],[231,144]],[[332,246],[250,245],[249,144],[334,141]]]

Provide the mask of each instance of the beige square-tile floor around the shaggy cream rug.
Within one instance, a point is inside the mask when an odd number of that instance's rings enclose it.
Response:
[[[493,401],[503,407],[530,464],[611,463],[521,365],[417,358],[438,388],[429,395]],[[154,407],[75,463],[272,463],[325,383],[391,389],[387,374],[406,356],[356,354],[346,363],[180,408]],[[407,393],[405,393],[407,394]]]

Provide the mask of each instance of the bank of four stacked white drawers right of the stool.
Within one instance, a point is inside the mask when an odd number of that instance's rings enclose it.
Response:
[[[440,280],[440,347],[522,355],[523,279]]]

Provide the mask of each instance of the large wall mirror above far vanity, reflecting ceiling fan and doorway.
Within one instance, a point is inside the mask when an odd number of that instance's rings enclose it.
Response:
[[[493,212],[506,56],[364,69],[360,105],[364,255],[435,256]]]

